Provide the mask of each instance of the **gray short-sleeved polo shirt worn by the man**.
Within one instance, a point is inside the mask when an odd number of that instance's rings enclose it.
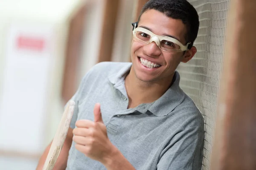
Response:
[[[178,72],[159,99],[127,109],[124,78],[130,68],[127,62],[101,62],[88,71],[72,98],[76,108],[70,127],[79,119],[93,121],[99,102],[110,141],[136,170],[201,170],[204,120],[180,89]],[[76,150],[73,142],[66,170],[106,168]]]

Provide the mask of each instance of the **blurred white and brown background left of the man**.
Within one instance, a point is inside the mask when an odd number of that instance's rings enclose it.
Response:
[[[129,61],[134,4],[0,0],[1,170],[34,170],[84,74]]]

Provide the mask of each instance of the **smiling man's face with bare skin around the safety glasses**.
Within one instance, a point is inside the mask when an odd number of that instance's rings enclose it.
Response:
[[[186,26],[182,20],[167,17],[154,9],[142,14],[138,27],[147,28],[157,35],[170,35],[186,45]],[[161,81],[166,77],[171,77],[180,62],[187,62],[194,55],[189,54],[192,53],[162,51],[154,41],[144,45],[133,39],[131,45],[133,69],[136,77],[143,82]],[[153,68],[145,66],[148,65],[147,62],[151,62]]]

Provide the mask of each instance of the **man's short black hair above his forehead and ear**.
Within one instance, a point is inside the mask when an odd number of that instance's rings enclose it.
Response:
[[[150,9],[154,9],[162,12],[167,17],[173,19],[180,19],[186,25],[185,39],[189,44],[189,49],[193,46],[198,35],[199,29],[199,17],[195,8],[187,0],[149,0],[143,6],[138,22],[140,21],[141,15]]]

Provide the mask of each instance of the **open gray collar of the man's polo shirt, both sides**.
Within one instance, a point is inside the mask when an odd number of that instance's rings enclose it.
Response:
[[[126,97],[127,93],[124,86],[125,75],[130,71],[132,63],[124,65],[120,71],[116,74],[112,74],[108,77],[109,81],[114,85],[114,88],[122,92]],[[163,96],[152,103],[141,104],[135,110],[140,113],[146,113],[150,111],[155,116],[166,116],[172,112],[185,98],[185,93],[181,90],[180,84],[180,74],[175,71],[174,81],[172,86],[166,91]]]

